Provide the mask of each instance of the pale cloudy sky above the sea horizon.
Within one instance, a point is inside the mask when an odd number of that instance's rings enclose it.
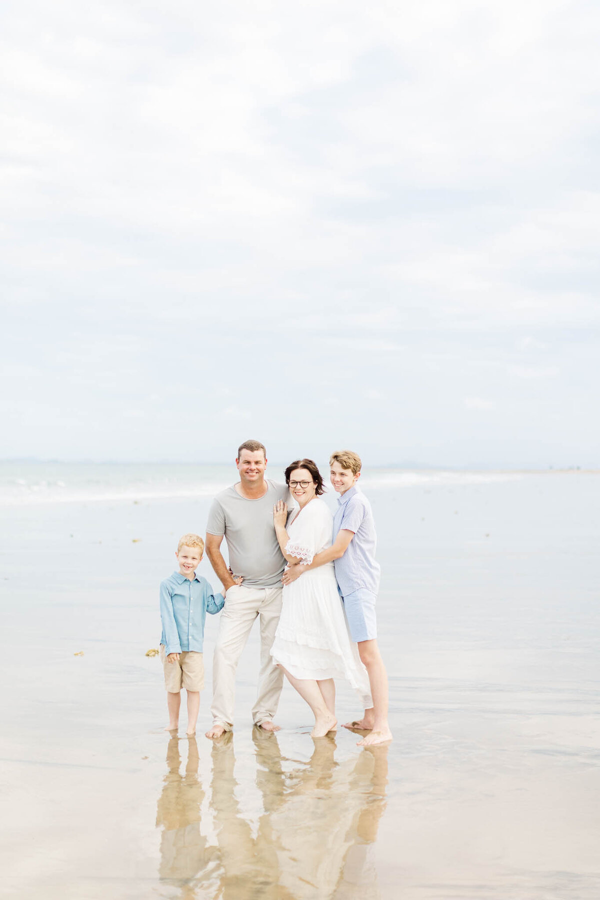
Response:
[[[4,4],[0,458],[600,467],[599,33]]]

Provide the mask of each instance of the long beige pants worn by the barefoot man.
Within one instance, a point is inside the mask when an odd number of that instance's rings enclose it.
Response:
[[[282,613],[282,588],[246,588],[234,584],[225,596],[220,614],[219,637],[212,660],[213,725],[226,731],[233,726],[236,691],[236,669],[246,646],[250,629],[260,615],[261,666],[258,696],[252,710],[255,725],[273,719],[282,693],[283,672],[273,665],[271,647]]]

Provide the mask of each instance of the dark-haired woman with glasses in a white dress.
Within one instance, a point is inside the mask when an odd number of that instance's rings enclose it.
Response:
[[[333,517],[320,500],[323,479],[311,459],[298,459],[285,470],[285,481],[300,510],[294,510],[286,529],[285,503],[280,500],[273,507],[277,539],[288,563],[310,564],[315,554],[331,546]],[[334,678],[348,680],[370,708],[369,678],[348,633],[333,563],[304,572],[284,586],[271,655],[312,709],[312,737],[336,730]]]

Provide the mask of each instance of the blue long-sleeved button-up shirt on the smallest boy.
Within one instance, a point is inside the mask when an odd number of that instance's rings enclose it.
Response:
[[[193,650],[202,652],[204,640],[204,620],[206,613],[218,613],[223,608],[225,598],[213,594],[208,581],[193,573],[193,581],[173,572],[160,583],[160,619],[163,633],[160,643],[165,653],[182,653]]]

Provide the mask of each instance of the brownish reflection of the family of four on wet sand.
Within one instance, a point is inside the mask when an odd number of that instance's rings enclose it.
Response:
[[[293,761],[282,757],[274,734],[255,729],[253,739],[264,810],[255,836],[236,797],[233,734],[212,747],[210,808],[217,846],[201,836],[204,794],[195,741],[184,777],[177,740],[169,742],[157,815],[164,829],[161,879],[190,900],[377,900],[371,851],[385,807],[388,748],[368,748],[337,763],[335,740],[319,738],[309,762],[290,770]]]

